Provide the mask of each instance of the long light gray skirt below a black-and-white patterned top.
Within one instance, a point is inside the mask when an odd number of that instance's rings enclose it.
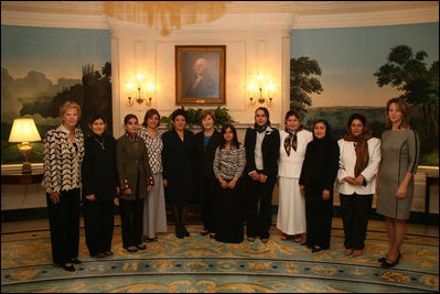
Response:
[[[157,232],[167,232],[167,207],[162,174],[154,174],[154,186],[143,200],[143,235],[154,238]]]

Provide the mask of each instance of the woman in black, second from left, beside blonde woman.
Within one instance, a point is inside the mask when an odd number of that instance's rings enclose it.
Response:
[[[116,140],[104,132],[107,120],[94,115],[88,121],[92,130],[85,140],[83,161],[83,209],[86,244],[92,257],[112,255],[114,197],[119,192],[116,171]]]

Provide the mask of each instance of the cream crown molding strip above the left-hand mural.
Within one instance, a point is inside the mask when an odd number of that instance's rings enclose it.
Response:
[[[109,29],[104,15],[34,13],[7,10],[1,10],[1,24],[69,29]]]

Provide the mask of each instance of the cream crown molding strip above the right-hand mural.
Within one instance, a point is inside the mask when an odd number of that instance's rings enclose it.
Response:
[[[398,11],[299,15],[292,29],[374,26],[428,22],[439,22],[438,9],[422,8]]]

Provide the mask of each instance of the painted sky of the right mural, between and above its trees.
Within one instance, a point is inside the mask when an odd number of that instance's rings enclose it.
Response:
[[[379,88],[373,76],[397,45],[423,50],[430,66],[439,59],[439,23],[292,30],[290,56],[309,56],[321,67],[324,91],[312,96],[312,107],[377,107],[399,96],[390,86]]]

